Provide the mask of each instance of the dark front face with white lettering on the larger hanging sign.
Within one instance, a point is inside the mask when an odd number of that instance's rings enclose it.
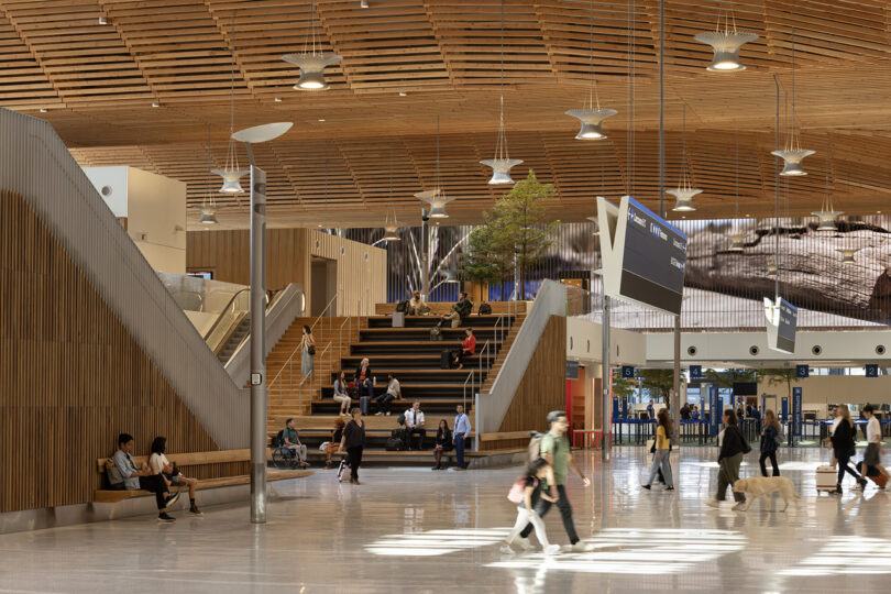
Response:
[[[634,198],[627,200],[619,293],[680,315],[688,238]]]

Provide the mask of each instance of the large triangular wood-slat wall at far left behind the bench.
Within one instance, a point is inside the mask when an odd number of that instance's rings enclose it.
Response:
[[[0,193],[0,512],[87,503],[117,437],[219,448],[36,213]],[[198,470],[198,469],[196,469]],[[188,470],[187,470],[188,471]],[[199,477],[243,474],[218,464]]]

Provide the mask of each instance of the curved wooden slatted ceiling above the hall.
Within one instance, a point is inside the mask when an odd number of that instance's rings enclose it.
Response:
[[[280,56],[300,51],[310,29],[307,0],[6,0],[0,4],[0,105],[46,117],[82,164],[129,164],[189,185],[197,205],[219,179],[229,128],[229,72],[235,55],[237,128],[277,120],[293,132],[257,147],[268,174],[278,224],[317,223],[326,212],[342,223],[383,220],[387,205],[416,217],[413,195],[436,185],[436,114],[443,141],[441,184],[457,198],[463,222],[479,220],[502,188],[485,184],[501,84],[497,0],[318,0],[321,48],[343,56],[329,67],[332,89],[292,90],[298,70]],[[607,196],[632,187],[657,201],[657,0],[594,3],[594,54],[601,105],[619,110],[605,123],[606,143],[572,140],[588,86],[586,0],[506,0],[505,108],[512,156],[524,160],[560,193],[559,216],[581,218],[604,186]],[[880,0],[745,0],[736,25],[757,33],[744,73],[714,75],[711,50],[692,36],[715,28],[723,4],[668,0],[666,6],[667,185],[680,174],[681,105],[688,106],[689,165],[706,191],[696,216],[726,216],[734,194],[734,131],[740,151],[743,210],[769,213],[773,204],[773,78],[791,90],[794,34],[798,122],[802,143],[825,152],[834,139],[832,180],[846,210],[871,212],[888,196],[891,167],[891,36],[889,3]],[[110,24],[98,24],[99,14]],[[232,18],[234,14],[234,26]],[[632,52],[629,52],[631,31]],[[634,160],[628,157],[628,57],[635,59]],[[405,90],[408,97],[398,97]],[[280,98],[280,102],[274,101]],[[158,100],[161,109],[152,109]],[[324,119],[324,122],[318,120]],[[389,139],[394,199],[389,196]],[[242,163],[246,163],[240,147]],[[600,169],[603,160],[604,180]],[[869,164],[869,166],[866,166]],[[789,180],[793,211],[810,212],[823,195],[823,156],[805,161],[811,175]],[[327,172],[327,174],[326,174]],[[326,193],[326,177],[328,191]],[[632,179],[629,179],[631,178]],[[783,188],[785,184],[783,184]],[[217,195],[245,220],[244,200]],[[239,202],[242,202],[239,206]],[[197,211],[193,211],[197,215]],[[558,216],[558,215],[554,215]],[[222,217],[226,218],[226,217]],[[243,223],[240,223],[243,224]],[[275,224],[275,223],[273,223]]]

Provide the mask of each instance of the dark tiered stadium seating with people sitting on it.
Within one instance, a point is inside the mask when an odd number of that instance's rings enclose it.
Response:
[[[381,305],[385,308],[381,308]],[[450,304],[431,305],[441,305],[440,309],[443,311],[451,307]],[[377,309],[393,311],[394,308],[393,304],[378,304]],[[349,349],[341,352],[339,367],[334,364],[330,370],[324,370],[324,381],[320,382],[308,407],[278,406],[273,398],[268,419],[270,438],[284,427],[287,418],[294,418],[300,439],[307,446],[309,460],[324,460],[324,452],[318,448],[322,442],[330,440],[334,419],[340,410],[340,404],[332,399],[338,372],[339,370],[346,372],[349,382],[362,359],[369,358],[373,378],[376,380],[373,387],[374,395],[380,396],[386,392],[387,374],[394,373],[399,381],[403,396],[391,403],[392,415],[388,417],[374,416],[376,408],[375,404],[371,403],[370,415],[364,417],[367,450],[363,461],[426,464],[428,459],[424,452],[418,458],[416,452],[385,450],[387,438],[398,428],[398,416],[410,408],[416,398],[421,400],[427,428],[424,443],[426,450],[432,450],[436,430],[441,419],[446,419],[449,427],[452,427],[458,405],[464,405],[473,422],[473,394],[481,391],[491,373],[497,373],[497,365],[509,349],[509,331],[514,326],[521,323],[522,318],[506,314],[485,316],[474,314],[469,317],[466,326],[473,328],[476,337],[476,354],[466,358],[464,369],[461,370],[441,369],[440,354],[446,350],[457,351],[461,348],[465,337],[464,326],[443,327],[442,340],[435,341],[430,339],[430,328],[439,322],[438,316],[406,316],[405,326],[402,328],[393,328],[391,315],[361,318],[356,340],[351,341]],[[271,356],[275,355],[278,346],[273,350]],[[361,395],[365,394],[366,392],[363,392]],[[358,399],[353,406],[359,406]],[[474,433],[471,437],[474,437]]]

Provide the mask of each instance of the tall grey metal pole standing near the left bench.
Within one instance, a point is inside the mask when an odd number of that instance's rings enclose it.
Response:
[[[266,522],[266,173],[251,165],[251,521]]]

